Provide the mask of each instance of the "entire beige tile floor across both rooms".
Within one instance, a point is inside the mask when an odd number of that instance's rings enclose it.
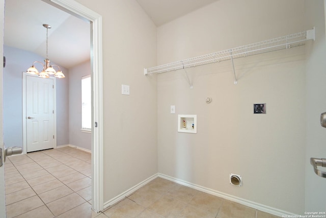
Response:
[[[7,218],[277,218],[156,178],[103,212],[91,211],[91,154],[62,147],[9,157]]]

